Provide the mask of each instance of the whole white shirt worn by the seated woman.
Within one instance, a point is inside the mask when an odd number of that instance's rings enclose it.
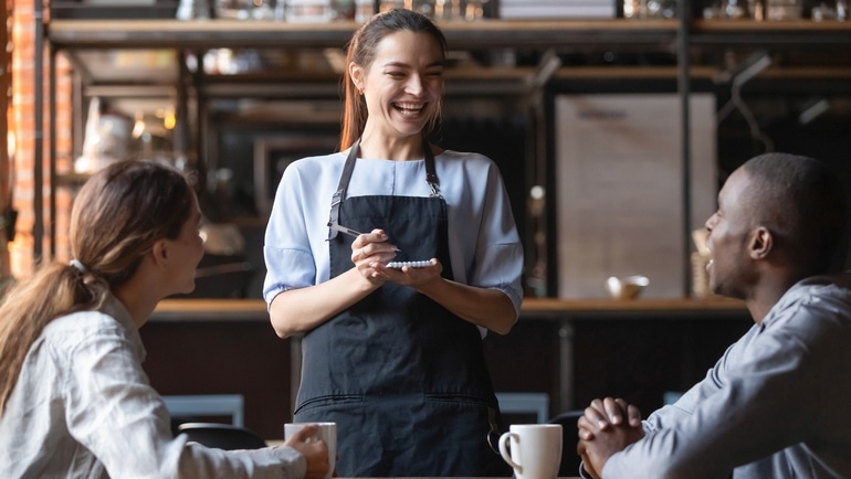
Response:
[[[49,323],[0,416],[0,478],[304,477],[288,447],[225,453],[174,438],[144,358],[115,297]]]

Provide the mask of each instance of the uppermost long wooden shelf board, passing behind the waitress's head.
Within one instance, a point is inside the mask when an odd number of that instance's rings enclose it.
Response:
[[[677,20],[491,20],[439,24],[453,49],[559,47],[670,43]],[[358,24],[239,20],[54,20],[59,49],[344,47]],[[851,22],[695,20],[690,41],[753,44],[851,44]]]

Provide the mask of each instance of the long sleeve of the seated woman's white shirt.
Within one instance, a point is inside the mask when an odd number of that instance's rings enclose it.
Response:
[[[81,338],[67,360],[66,422],[109,477],[301,478],[290,448],[225,453],[171,437],[168,412],[148,385],[133,345],[111,331]]]

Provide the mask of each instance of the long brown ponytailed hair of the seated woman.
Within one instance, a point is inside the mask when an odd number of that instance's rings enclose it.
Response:
[[[13,285],[0,305],[0,415],[44,327],[69,312],[97,309],[157,241],[176,240],[193,194],[178,170],[143,161],[113,163],[86,181],[74,199],[69,234],[81,268],[45,264]]]

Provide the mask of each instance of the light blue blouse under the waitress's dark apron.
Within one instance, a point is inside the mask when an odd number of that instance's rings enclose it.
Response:
[[[267,304],[287,289],[328,280],[328,213],[347,153],[304,158],[284,171],[263,246]],[[505,292],[519,313],[523,246],[496,164],[479,153],[449,150],[434,163],[448,206],[454,280]],[[358,159],[346,198],[430,194],[423,160]]]

